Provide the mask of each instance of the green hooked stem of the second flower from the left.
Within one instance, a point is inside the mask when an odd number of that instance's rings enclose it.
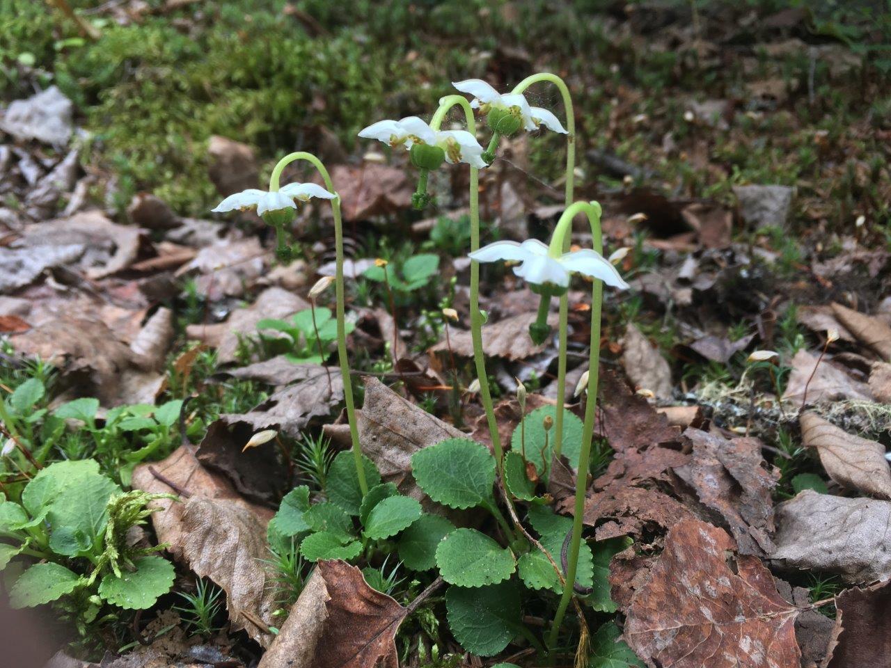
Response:
[[[430,127],[438,130],[446,118],[446,113],[454,106],[460,106],[464,110],[467,119],[467,130],[470,134],[477,134],[477,123],[473,118],[473,109],[470,102],[462,95],[446,95],[439,101],[439,108],[433,114]],[[479,170],[470,167],[470,252],[479,248]],[[501,436],[498,435],[498,422],[495,420],[495,409],[492,405],[492,393],[489,391],[489,378],[486,374],[486,356],[483,354],[483,314],[479,312],[479,263],[476,260],[470,262],[470,338],[473,340],[473,363],[477,370],[479,380],[479,397],[486,409],[486,423],[489,427],[489,436],[492,438],[492,448],[495,450],[495,462],[498,464],[499,475],[503,474],[503,449]]]

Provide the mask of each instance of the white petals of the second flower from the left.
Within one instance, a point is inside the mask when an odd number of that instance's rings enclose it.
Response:
[[[438,146],[446,151],[446,162],[450,165],[466,162],[471,167],[487,167],[486,161],[482,159],[483,147],[467,130],[434,130],[417,116],[407,116],[401,120],[379,120],[364,128],[359,136],[363,139],[377,139],[392,148],[405,146],[406,149],[411,149],[414,144]]]

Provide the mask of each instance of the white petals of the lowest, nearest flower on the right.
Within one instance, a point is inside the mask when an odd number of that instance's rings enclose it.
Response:
[[[477,262],[498,260],[519,262],[520,265],[514,267],[513,273],[535,285],[553,283],[560,288],[566,288],[569,285],[569,274],[581,273],[590,278],[600,279],[614,288],[628,288],[628,284],[622,280],[616,267],[591,248],[552,257],[548,253],[548,247],[537,239],[528,239],[522,243],[495,241],[470,253],[470,258]]]

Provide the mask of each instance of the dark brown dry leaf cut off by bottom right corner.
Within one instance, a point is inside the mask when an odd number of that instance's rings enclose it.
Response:
[[[891,586],[842,591],[836,599],[837,644],[828,668],[887,668],[891,657]]]

